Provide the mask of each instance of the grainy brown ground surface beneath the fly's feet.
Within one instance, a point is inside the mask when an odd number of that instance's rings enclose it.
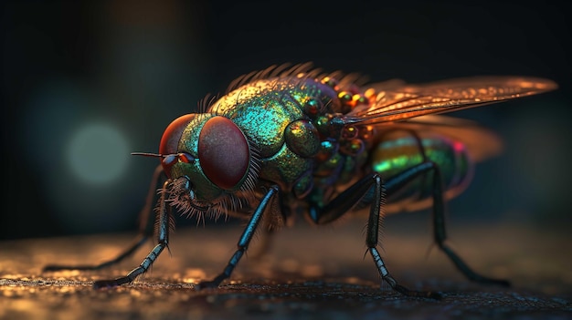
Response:
[[[350,222],[281,231],[268,255],[250,253],[230,281],[203,291],[194,284],[222,270],[240,227],[179,230],[151,273],[101,290],[91,287],[94,280],[129,272],[151,244],[100,271],[42,273],[48,263],[99,263],[134,234],[3,242],[0,319],[572,319],[569,234],[502,225],[451,230],[452,246],[474,269],[512,281],[504,288],[466,281],[430,245],[429,230],[387,229],[389,271],[401,284],[443,295],[433,301],[380,286],[362,230]]]

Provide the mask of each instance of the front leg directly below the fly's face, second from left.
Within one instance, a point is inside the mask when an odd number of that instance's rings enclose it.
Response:
[[[169,181],[165,181],[164,182],[164,190],[167,190],[167,184],[169,183]],[[144,274],[147,270],[149,270],[149,268],[151,267],[151,265],[153,265],[154,261],[159,257],[159,254],[161,254],[164,250],[164,248],[166,248],[168,246],[168,242],[169,242],[169,228],[170,228],[170,222],[172,221],[172,207],[166,203],[165,198],[166,195],[165,193],[167,192],[163,192],[161,193],[161,200],[160,200],[160,204],[159,204],[159,219],[157,221],[157,245],[154,246],[153,250],[151,250],[151,252],[149,254],[147,254],[147,256],[145,257],[145,259],[143,259],[143,262],[141,264],[139,264],[138,267],[136,267],[135,269],[133,269],[129,274],[119,277],[117,279],[111,279],[111,280],[99,280],[93,283],[93,287],[96,289],[99,288],[104,288],[104,287],[113,287],[113,286],[118,286],[121,284],[129,284],[132,283],[133,280],[135,280],[135,278],[141,274]]]

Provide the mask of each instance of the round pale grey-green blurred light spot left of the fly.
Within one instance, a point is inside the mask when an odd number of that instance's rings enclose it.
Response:
[[[127,166],[129,148],[122,133],[106,124],[79,129],[69,143],[72,172],[81,180],[100,184],[119,178]]]

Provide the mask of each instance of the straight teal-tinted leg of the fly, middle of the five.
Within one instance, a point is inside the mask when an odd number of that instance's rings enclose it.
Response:
[[[232,255],[232,257],[230,257],[230,260],[228,261],[225,270],[221,274],[218,274],[217,277],[215,277],[215,279],[213,279],[212,281],[205,281],[200,284],[196,284],[195,286],[196,290],[217,287],[218,284],[220,284],[223,280],[227,279],[230,276],[230,274],[232,274],[232,271],[237,266],[238,262],[240,261],[240,258],[242,258],[242,255],[247,251],[250,240],[252,240],[252,236],[254,235],[254,232],[256,231],[257,227],[260,224],[262,214],[264,214],[266,207],[272,200],[272,197],[277,192],[278,192],[278,186],[272,186],[270,187],[270,190],[266,192],[266,195],[264,195],[264,198],[262,198],[262,200],[260,201],[259,206],[252,213],[252,216],[250,217],[249,223],[247,224],[247,227],[244,229],[244,232],[242,232],[242,235],[240,235],[240,239],[238,239],[237,243],[238,249]]]

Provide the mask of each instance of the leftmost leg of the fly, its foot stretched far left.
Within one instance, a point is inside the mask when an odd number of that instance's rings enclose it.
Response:
[[[153,236],[153,224],[154,219],[150,219],[150,212],[153,212],[154,205],[154,195],[157,190],[157,184],[159,178],[163,173],[163,168],[161,165],[157,166],[154,170],[153,178],[151,180],[151,186],[147,192],[147,198],[145,200],[145,205],[143,210],[139,213],[139,230],[137,237],[133,239],[132,243],[125,249],[122,253],[117,255],[115,258],[105,261],[99,264],[78,264],[78,265],[66,265],[66,264],[48,264],[42,270],[44,272],[52,272],[59,270],[100,270],[106,268],[116,263],[120,263],[126,257],[132,255],[137,249],[139,249],[143,243],[149,241],[151,236]]]

